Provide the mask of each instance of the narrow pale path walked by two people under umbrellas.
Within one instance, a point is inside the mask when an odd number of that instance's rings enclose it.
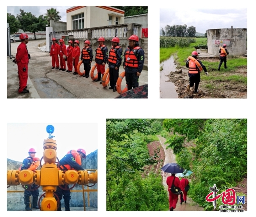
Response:
[[[175,159],[175,154],[173,153],[173,151],[168,148],[166,149],[168,144],[164,144],[166,142],[166,139],[164,137],[161,137],[160,135],[157,136],[160,144],[165,152],[165,160],[164,160],[164,165],[166,163],[176,163],[176,159]],[[167,177],[170,175],[170,173],[164,173],[162,172],[162,177],[163,177],[163,182],[162,184],[164,185],[166,191],[167,190],[167,185],[166,185],[166,179]],[[197,205],[190,197],[187,196],[187,203],[186,204],[180,204],[180,196],[179,196],[179,200],[177,202],[175,211],[203,211],[203,207]]]

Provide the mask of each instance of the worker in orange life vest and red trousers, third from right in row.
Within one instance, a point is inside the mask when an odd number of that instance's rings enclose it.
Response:
[[[98,38],[98,47],[95,50],[95,62],[97,64],[97,71],[98,71],[98,78],[94,81],[101,81],[101,75],[105,72],[105,65],[107,63],[108,59],[108,49],[106,45],[104,44],[105,38],[100,37]],[[100,82],[102,84],[102,82]]]

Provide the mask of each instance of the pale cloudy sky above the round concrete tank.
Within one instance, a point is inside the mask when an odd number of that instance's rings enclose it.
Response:
[[[194,26],[196,31],[207,29],[247,28],[247,9],[184,9],[160,8],[160,29],[166,25]]]

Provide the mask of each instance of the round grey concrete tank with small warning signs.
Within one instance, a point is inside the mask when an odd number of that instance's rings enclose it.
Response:
[[[219,56],[219,47],[226,44],[229,55],[244,55],[247,53],[247,29],[208,29],[208,53]]]

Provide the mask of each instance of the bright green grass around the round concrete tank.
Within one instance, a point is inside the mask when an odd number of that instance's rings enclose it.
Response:
[[[167,37],[166,37],[167,38]],[[177,67],[186,67],[186,59],[191,55],[192,51],[195,50],[195,47],[200,45],[207,45],[207,38],[194,38],[195,42],[190,43],[188,47],[181,48],[177,44],[175,47],[160,47],[160,63],[164,60],[170,58],[171,55],[175,55],[175,62]],[[161,46],[160,38],[160,46]],[[164,43],[162,43],[164,44]],[[166,43],[165,43],[166,45]],[[173,44],[172,44],[173,45]],[[200,59],[200,58],[199,58]],[[239,73],[239,69],[247,68],[247,58],[242,58],[241,56],[232,56],[228,55],[227,58],[227,69],[224,69],[224,63],[222,64],[221,70],[218,71],[219,59],[212,58],[202,59],[202,63],[206,66],[209,76],[201,76],[201,81],[209,81],[204,84],[204,88],[208,91],[219,89],[221,91],[222,85],[216,86],[214,83],[218,82],[231,82],[232,84],[246,86],[247,83],[247,74]]]

